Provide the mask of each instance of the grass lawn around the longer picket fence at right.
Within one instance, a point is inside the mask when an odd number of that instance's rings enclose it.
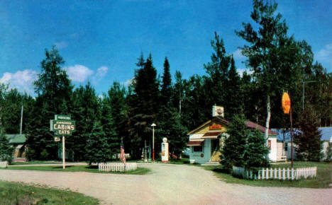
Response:
[[[221,166],[206,166],[224,182],[258,187],[306,187],[306,188],[331,188],[332,163],[323,162],[294,162],[294,168],[317,167],[317,176],[308,180],[243,180],[221,172]],[[272,168],[291,168],[290,164],[271,165]]]

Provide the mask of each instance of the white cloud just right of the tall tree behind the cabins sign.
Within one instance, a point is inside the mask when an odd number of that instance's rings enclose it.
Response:
[[[78,64],[74,66],[65,67],[64,69],[67,71],[69,78],[73,82],[78,82],[78,83],[86,81],[87,78],[89,78],[89,76],[92,76],[92,74],[94,74],[94,71],[92,71],[91,69],[87,68],[86,66]]]

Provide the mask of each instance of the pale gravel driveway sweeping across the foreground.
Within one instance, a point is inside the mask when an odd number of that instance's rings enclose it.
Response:
[[[250,187],[189,165],[139,164],[149,175],[0,170],[0,180],[72,189],[102,204],[332,204],[332,189]]]

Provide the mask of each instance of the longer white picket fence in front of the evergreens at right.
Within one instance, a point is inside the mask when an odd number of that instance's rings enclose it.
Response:
[[[297,168],[297,169],[281,169],[281,168],[262,168],[256,175],[252,170],[245,168],[233,167],[233,175],[243,177],[250,180],[300,180],[316,177],[317,167],[312,168]]]

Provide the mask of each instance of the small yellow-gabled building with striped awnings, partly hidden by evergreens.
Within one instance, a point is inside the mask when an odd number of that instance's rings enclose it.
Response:
[[[228,121],[222,117],[213,117],[208,122],[201,124],[196,129],[189,131],[189,160],[191,163],[217,163],[221,160],[221,147],[225,139],[228,137],[227,127]],[[259,129],[265,133],[265,127],[260,126],[254,122],[245,122],[248,129]],[[277,132],[269,130],[269,139],[267,144],[270,149],[269,158],[272,161],[277,161],[278,146],[277,146]]]

